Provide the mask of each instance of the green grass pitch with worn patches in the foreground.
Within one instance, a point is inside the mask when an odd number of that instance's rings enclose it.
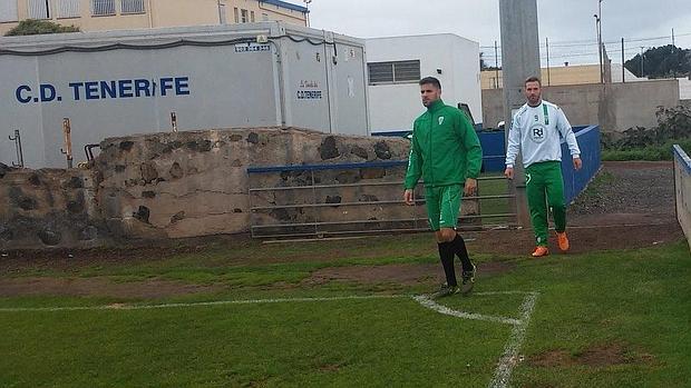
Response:
[[[0,386],[500,387],[499,364],[513,387],[691,386],[685,241],[544,260],[475,258],[505,270],[480,272],[470,297],[438,301],[459,317],[412,298],[431,291],[440,272],[426,235],[16,266],[2,273],[6,286],[159,281],[203,291],[2,297]],[[400,268],[421,269],[419,279],[400,281]],[[383,275],[315,279],[353,269]],[[536,299],[526,311],[529,292]],[[516,357],[506,359],[512,346]]]

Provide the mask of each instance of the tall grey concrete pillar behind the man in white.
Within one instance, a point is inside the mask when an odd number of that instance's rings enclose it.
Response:
[[[502,72],[504,76],[504,117],[506,137],[513,112],[525,103],[523,94],[526,78],[539,77],[539,38],[537,29],[537,0],[499,0],[502,27]],[[507,139],[508,143],[508,139]],[[515,166],[515,178],[509,185],[516,195],[515,208],[518,225],[528,227],[531,218],[525,193],[525,175],[520,156]]]

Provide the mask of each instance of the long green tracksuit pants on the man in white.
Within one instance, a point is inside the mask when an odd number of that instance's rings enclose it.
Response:
[[[531,220],[537,246],[547,246],[547,205],[552,209],[556,231],[566,230],[566,203],[564,202],[564,178],[562,163],[543,161],[525,170],[526,192]]]

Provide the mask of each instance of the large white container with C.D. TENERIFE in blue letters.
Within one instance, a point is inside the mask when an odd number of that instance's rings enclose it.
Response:
[[[110,48],[108,46],[115,44]],[[104,138],[301,127],[369,135],[362,40],[281,22],[0,38],[0,162],[65,167]],[[2,135],[6,133],[6,135]]]

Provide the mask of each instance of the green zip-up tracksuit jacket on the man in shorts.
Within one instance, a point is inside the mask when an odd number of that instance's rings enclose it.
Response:
[[[406,189],[412,189],[420,176],[425,187],[464,185],[477,178],[483,149],[466,115],[444,101],[432,102],[412,126]]]

